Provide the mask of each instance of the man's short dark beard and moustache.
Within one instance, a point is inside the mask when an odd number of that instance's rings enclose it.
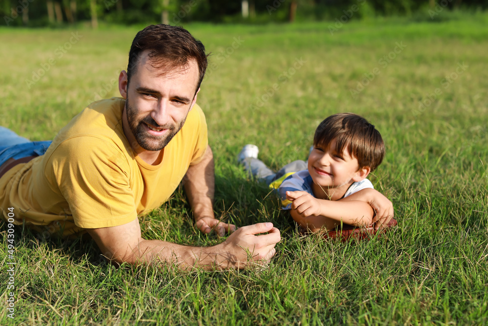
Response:
[[[163,126],[158,125],[153,118],[149,115],[142,118],[141,120],[137,120],[137,109],[134,109],[129,105],[129,99],[125,101],[125,109],[127,112],[127,122],[129,123],[130,130],[136,138],[137,143],[146,151],[161,151],[168,143],[173,139],[173,137],[182,129],[183,124],[186,120],[186,116],[180,122],[180,126],[178,130],[176,129],[175,125],[165,124]],[[156,137],[153,136],[145,130],[143,124],[146,123],[154,128],[157,129],[167,129],[168,133],[165,136]]]

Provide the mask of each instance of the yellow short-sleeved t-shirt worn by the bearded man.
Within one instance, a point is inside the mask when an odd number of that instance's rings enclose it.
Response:
[[[208,145],[202,109],[195,105],[183,128],[149,165],[130,147],[122,130],[125,100],[92,103],[61,129],[47,152],[0,178],[0,207],[15,224],[63,236],[128,223],[169,199],[190,165]]]

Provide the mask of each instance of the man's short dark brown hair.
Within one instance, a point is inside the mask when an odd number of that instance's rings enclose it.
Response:
[[[207,68],[207,54],[202,42],[180,26],[165,24],[150,25],[137,33],[129,51],[127,81],[136,72],[143,51],[149,50],[149,59],[155,68],[187,67],[194,59],[199,70],[199,81],[195,92],[202,84]]]

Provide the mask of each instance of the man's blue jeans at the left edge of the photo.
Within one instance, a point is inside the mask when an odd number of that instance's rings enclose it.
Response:
[[[51,140],[31,142],[12,130],[0,126],[0,166],[10,158],[43,155],[51,143]]]

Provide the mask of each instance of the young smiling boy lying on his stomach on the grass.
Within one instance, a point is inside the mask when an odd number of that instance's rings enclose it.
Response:
[[[257,159],[254,145],[244,146],[239,160],[247,171],[278,188],[283,209],[290,210],[305,230],[329,231],[342,224],[374,224],[375,230],[386,226],[393,217],[393,206],[366,179],[385,155],[378,130],[359,115],[338,113],[317,127],[313,143],[307,163],[292,162],[277,174]],[[298,169],[305,166],[306,170]],[[278,186],[275,180],[287,174]],[[394,219],[391,222],[389,225],[396,224]]]

